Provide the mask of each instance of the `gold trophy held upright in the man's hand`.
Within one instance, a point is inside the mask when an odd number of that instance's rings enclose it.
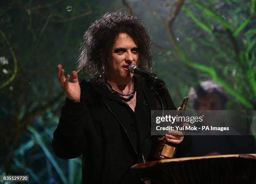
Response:
[[[188,99],[188,97],[185,97],[182,105],[180,107],[176,107],[174,110],[184,111],[186,109]],[[184,112],[181,112],[181,114],[184,114]],[[171,159],[174,156],[176,149],[177,145],[169,143],[165,136],[159,136],[156,142],[154,157],[156,159]]]

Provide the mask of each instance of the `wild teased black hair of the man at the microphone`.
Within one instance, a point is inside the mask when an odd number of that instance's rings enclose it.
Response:
[[[122,13],[106,13],[88,28],[84,34],[78,71],[104,82],[111,49],[120,33],[127,34],[137,45],[140,61],[138,67],[151,72],[151,40],[146,25],[141,20]]]

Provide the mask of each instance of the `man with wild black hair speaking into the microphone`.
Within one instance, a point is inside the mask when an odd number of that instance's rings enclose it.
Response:
[[[128,66],[151,72],[150,44],[141,20],[123,13],[106,13],[84,34],[78,71],[90,81],[78,81],[73,71],[69,82],[70,76],[64,76],[62,66],[57,66],[67,99],[53,147],[62,159],[83,154],[84,184],[141,183],[130,167],[140,162],[141,146],[151,133],[150,111],[157,110],[158,102],[150,84],[130,73]],[[167,89],[158,93],[164,108],[173,110]],[[181,156],[186,149],[183,134],[167,135],[166,139],[180,145],[177,156]],[[151,145],[147,146],[150,149]]]

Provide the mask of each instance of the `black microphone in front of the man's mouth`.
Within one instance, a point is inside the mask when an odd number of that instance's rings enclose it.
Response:
[[[158,78],[157,76],[155,76],[153,73],[148,73],[146,71],[141,70],[140,68],[138,68],[138,66],[136,65],[130,65],[128,67],[128,70],[131,73],[135,73],[138,75],[141,75],[144,78],[150,79],[151,81],[154,81],[155,83],[163,83],[165,86],[164,81],[161,78]]]

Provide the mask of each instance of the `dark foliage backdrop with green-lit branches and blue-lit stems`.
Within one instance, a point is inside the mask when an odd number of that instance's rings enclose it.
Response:
[[[56,65],[75,70],[84,31],[118,10],[148,25],[154,71],[177,106],[190,87],[211,79],[227,92],[226,109],[255,110],[255,0],[1,1],[0,174],[81,181],[81,158],[61,160],[51,147],[65,98]]]

